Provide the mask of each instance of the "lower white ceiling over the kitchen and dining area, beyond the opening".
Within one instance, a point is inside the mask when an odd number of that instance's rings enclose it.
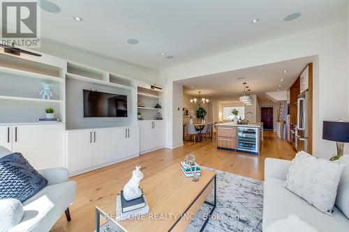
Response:
[[[278,89],[287,91],[306,65],[313,62],[315,58],[315,56],[307,56],[290,61],[183,79],[176,83],[184,85],[186,95],[195,96],[198,95],[198,91],[201,91],[201,95],[205,98],[219,102],[235,102],[244,90],[242,83],[247,82],[246,86],[251,88],[251,95],[257,95],[258,99],[263,102],[268,100],[265,95],[267,92],[275,92]],[[283,73],[283,70],[288,72]],[[245,79],[238,79],[239,77],[245,77]]]

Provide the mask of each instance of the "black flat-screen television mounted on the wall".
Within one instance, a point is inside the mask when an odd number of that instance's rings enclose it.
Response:
[[[84,118],[127,117],[127,95],[83,90]]]

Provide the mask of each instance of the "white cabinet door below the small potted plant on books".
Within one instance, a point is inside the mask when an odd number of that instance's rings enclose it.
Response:
[[[13,151],[35,169],[65,167],[64,133],[64,124],[13,126]]]

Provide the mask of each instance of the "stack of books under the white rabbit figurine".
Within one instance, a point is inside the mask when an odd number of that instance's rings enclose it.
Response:
[[[140,215],[146,215],[149,212],[149,206],[144,193],[139,198],[126,201],[123,190],[117,194],[117,221],[124,219],[137,219]]]

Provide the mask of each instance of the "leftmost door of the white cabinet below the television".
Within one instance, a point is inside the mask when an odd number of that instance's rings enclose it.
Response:
[[[66,157],[69,172],[92,167],[92,132],[67,132]]]

